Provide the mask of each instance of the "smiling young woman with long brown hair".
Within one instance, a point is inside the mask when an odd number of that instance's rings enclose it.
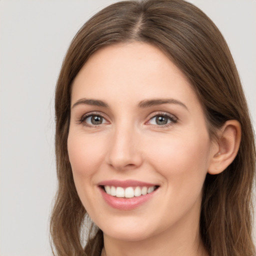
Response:
[[[98,12],[69,46],[55,113],[56,255],[254,255],[251,122],[225,40],[198,8]]]

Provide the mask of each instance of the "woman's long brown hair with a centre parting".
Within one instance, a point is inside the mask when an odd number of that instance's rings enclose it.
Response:
[[[99,255],[103,246],[102,231],[88,221],[77,195],[68,160],[71,84],[93,52],[129,41],[157,46],[183,71],[202,104],[212,138],[225,121],[240,122],[242,136],[235,159],[220,174],[206,175],[200,234],[211,256],[254,255],[251,191],[255,146],[246,100],[223,36],[200,9],[183,0],[114,3],[91,17],[68,48],[55,91],[58,190],[50,231],[56,255]]]

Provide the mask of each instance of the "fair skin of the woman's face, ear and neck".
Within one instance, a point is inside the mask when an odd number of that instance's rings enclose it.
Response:
[[[194,90],[158,48],[117,44],[89,58],[72,84],[67,147],[81,202],[103,231],[102,255],[208,255],[203,181],[235,156],[239,124],[219,134],[210,140]],[[107,185],[154,190],[124,198]]]

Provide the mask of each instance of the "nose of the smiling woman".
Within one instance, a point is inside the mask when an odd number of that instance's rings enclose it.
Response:
[[[109,137],[107,163],[116,170],[137,168],[142,164],[140,136],[132,127],[119,127]]]

